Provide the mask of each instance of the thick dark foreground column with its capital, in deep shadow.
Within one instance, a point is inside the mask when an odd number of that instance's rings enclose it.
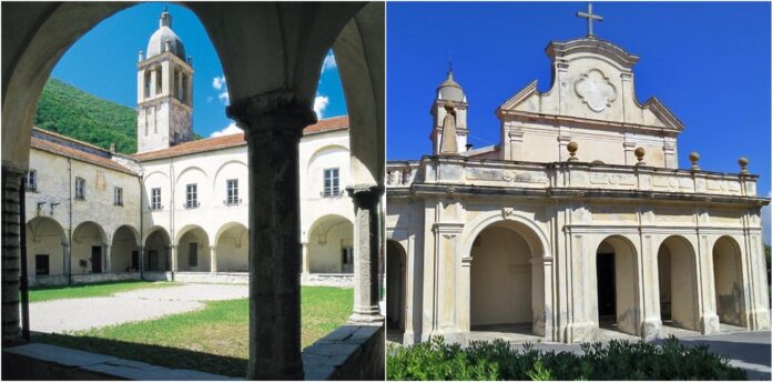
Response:
[[[248,147],[247,379],[302,380],[298,144],[316,114],[287,91],[237,100],[227,114]]]

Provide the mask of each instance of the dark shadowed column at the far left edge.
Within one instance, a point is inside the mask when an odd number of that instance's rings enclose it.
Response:
[[[19,316],[20,212],[19,188],[24,172],[2,167],[2,346],[21,343]]]

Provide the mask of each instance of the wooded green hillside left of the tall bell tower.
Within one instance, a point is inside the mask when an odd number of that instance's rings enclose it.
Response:
[[[136,152],[134,109],[89,94],[71,84],[49,79],[38,101],[34,124],[44,130],[115,151]],[[201,139],[193,134],[193,139]]]

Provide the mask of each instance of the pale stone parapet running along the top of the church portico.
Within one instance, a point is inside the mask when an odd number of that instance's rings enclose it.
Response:
[[[424,184],[509,187],[516,189],[597,189],[605,191],[647,191],[731,197],[756,197],[758,175],[709,171],[673,170],[652,167],[596,164],[585,162],[514,162],[464,158],[425,157],[419,163],[387,164],[387,173],[407,169],[420,173]],[[415,165],[414,165],[415,163]],[[395,177],[399,179],[398,177]],[[387,182],[409,187],[410,182]]]

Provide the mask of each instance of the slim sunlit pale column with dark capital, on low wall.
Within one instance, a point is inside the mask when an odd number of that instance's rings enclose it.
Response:
[[[384,321],[378,306],[378,252],[380,250],[380,185],[348,188],[354,201],[354,313],[355,323]]]

